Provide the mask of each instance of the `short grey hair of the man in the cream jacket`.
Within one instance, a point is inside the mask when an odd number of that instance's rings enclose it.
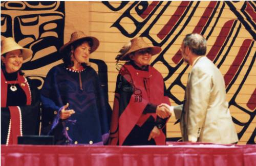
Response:
[[[189,49],[198,56],[204,56],[206,53],[206,39],[200,34],[187,34],[183,40],[184,47]]]

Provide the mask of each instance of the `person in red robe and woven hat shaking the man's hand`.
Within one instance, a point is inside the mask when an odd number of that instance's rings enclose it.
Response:
[[[127,61],[117,76],[110,130],[110,145],[165,145],[170,113],[161,73],[150,66],[160,47],[137,37],[124,45],[116,59]]]

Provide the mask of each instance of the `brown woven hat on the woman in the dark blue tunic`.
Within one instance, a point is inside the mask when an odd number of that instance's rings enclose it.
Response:
[[[82,31],[76,31],[76,32],[72,33],[71,37],[70,37],[70,41],[68,43],[64,44],[62,47],[60,47],[59,52],[62,53],[63,51],[65,51],[65,49],[67,47],[69,47],[72,43],[74,43],[78,40],[87,40],[87,39],[91,39],[93,42],[92,47],[91,47],[91,53],[92,53],[98,48],[99,40],[95,37],[87,36]]]

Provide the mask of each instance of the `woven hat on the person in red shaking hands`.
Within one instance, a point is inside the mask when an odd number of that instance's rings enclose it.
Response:
[[[154,56],[155,54],[161,52],[161,47],[157,47],[157,46],[150,46],[148,45],[144,40],[143,37],[137,37],[131,40],[130,44],[125,44],[125,46],[130,46],[130,49],[128,49],[126,51],[126,53],[123,53],[122,50],[124,50],[123,48],[120,50],[121,53],[123,54],[119,54],[116,59],[120,60],[120,61],[129,61],[129,54],[135,51],[138,51],[140,49],[144,49],[144,48],[150,48],[150,53],[152,54],[152,56]],[[127,48],[126,48],[127,49]]]

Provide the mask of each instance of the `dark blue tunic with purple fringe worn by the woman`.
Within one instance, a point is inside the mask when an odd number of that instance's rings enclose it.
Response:
[[[80,72],[71,71],[63,64],[53,67],[41,89],[42,132],[55,136],[56,144],[103,145],[109,136],[107,102],[99,77],[92,67]],[[61,120],[59,108],[69,103],[75,114]]]

